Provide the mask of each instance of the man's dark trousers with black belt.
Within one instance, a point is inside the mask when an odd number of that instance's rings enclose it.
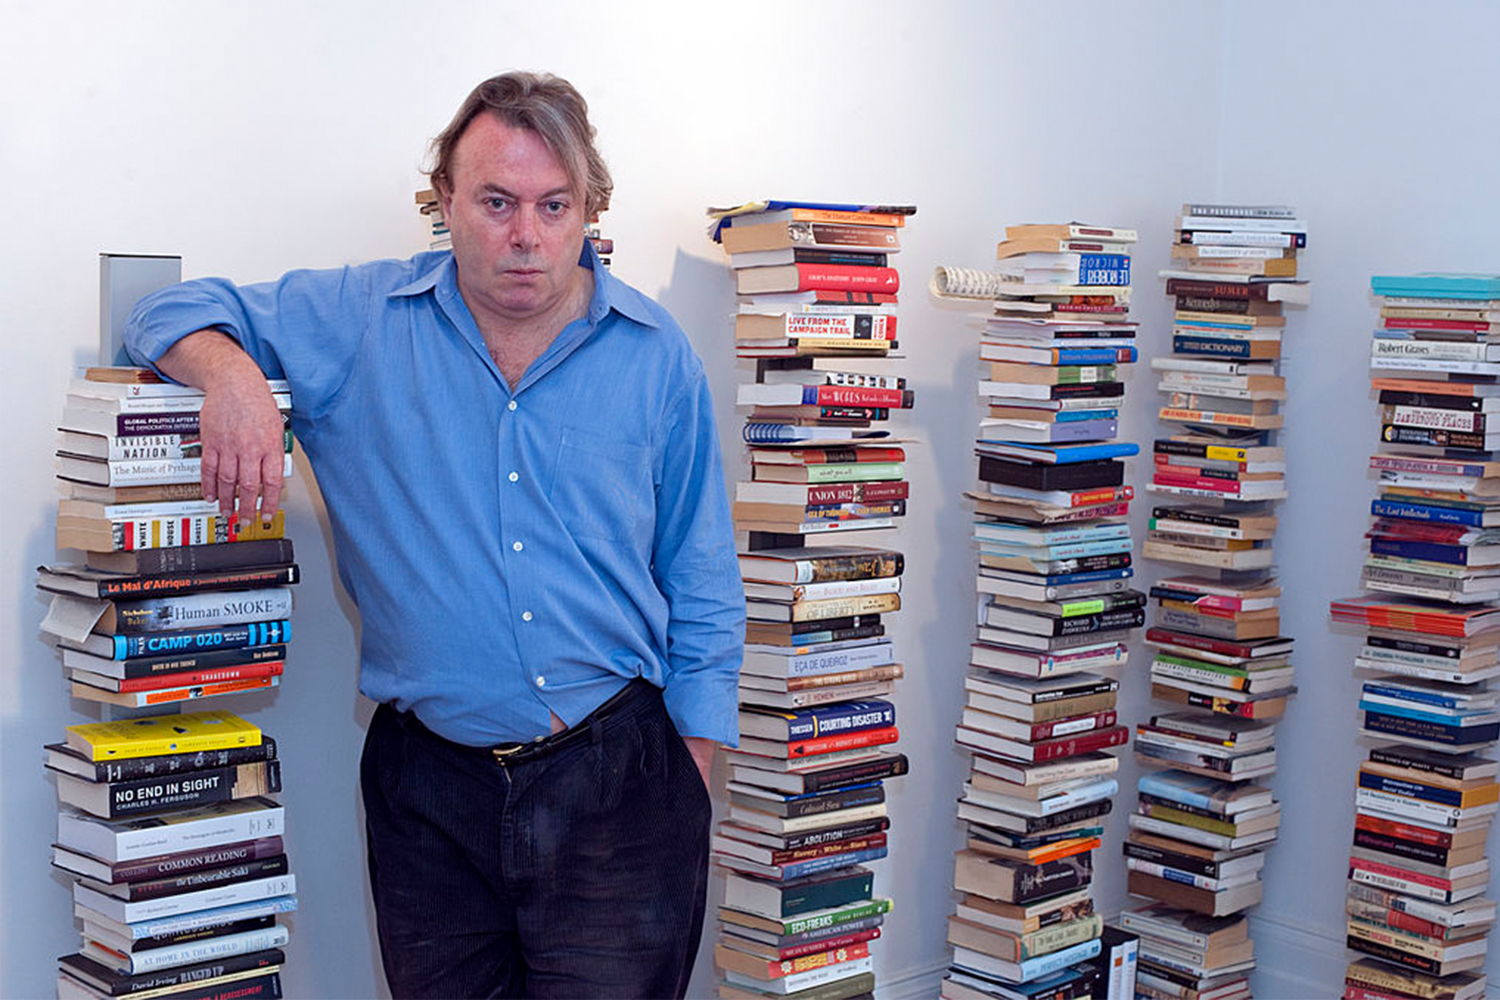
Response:
[[[662,693],[633,681],[514,757],[375,711],[360,781],[392,994],[682,997],[712,810]]]

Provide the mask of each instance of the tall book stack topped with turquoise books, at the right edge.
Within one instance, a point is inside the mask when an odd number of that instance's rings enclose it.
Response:
[[[1500,277],[1377,276],[1365,595],[1334,601],[1364,646],[1346,997],[1482,996],[1500,802]]]

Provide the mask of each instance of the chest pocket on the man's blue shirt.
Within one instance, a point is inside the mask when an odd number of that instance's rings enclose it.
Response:
[[[548,499],[574,537],[650,549],[656,528],[651,448],[564,427]]]

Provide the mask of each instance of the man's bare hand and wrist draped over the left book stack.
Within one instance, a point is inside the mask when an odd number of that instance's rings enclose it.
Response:
[[[180,339],[156,366],[186,385],[204,390],[198,433],[202,441],[202,495],[270,523],[280,504],[285,438],[280,411],[266,375],[244,349],[219,330],[198,330]]]

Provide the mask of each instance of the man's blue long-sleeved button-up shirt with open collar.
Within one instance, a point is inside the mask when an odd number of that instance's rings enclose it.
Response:
[[[366,696],[488,745],[644,676],[684,736],[734,745],[744,591],[704,367],[586,241],[579,265],[588,313],[514,390],[447,252],[184,282],[141,300],[124,339],[154,363],[218,327],[291,382]]]

